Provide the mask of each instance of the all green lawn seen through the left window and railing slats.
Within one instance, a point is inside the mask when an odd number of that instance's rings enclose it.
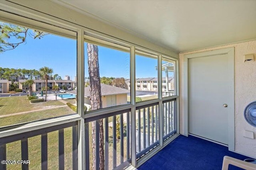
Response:
[[[70,103],[75,103],[74,99],[66,100]],[[15,107],[14,107],[15,106]],[[0,98],[0,114],[6,115],[10,113],[18,113],[22,111],[32,111],[35,109],[49,108],[51,106],[64,106],[59,101],[48,101],[37,104],[30,104],[26,99],[26,96],[17,96],[10,98]],[[57,117],[61,115],[72,114],[69,107],[60,107],[47,109],[43,111],[34,111],[31,113],[25,113],[21,115],[13,115],[9,117],[0,118],[0,126],[8,126],[18,123],[24,123],[29,121],[36,121],[40,119],[47,119]],[[112,121],[112,117],[109,117],[109,122]],[[124,123],[125,126],[126,123]],[[92,132],[91,123],[89,123],[89,137],[90,137],[90,168],[92,167]],[[108,127],[109,132],[109,167],[112,169],[112,152],[113,152],[113,129]],[[120,164],[120,140],[116,143],[117,152],[117,165]],[[126,160],[126,137],[124,137],[124,160]],[[21,160],[21,141],[8,143],[6,145],[6,159],[7,160]],[[28,159],[30,160],[29,169],[37,170],[41,168],[41,136],[35,136],[28,139]],[[72,127],[64,129],[64,161],[65,169],[72,169]],[[7,169],[20,170],[21,165],[13,164],[7,165]],[[58,169],[58,131],[48,133],[48,169]]]

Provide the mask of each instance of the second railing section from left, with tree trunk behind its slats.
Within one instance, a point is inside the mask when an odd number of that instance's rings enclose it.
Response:
[[[109,113],[107,115],[85,119],[86,138],[86,169],[92,169],[92,163],[100,164],[99,149],[100,125],[104,127],[104,159],[105,169],[124,169],[131,164],[131,120],[130,109]],[[92,121],[96,125],[96,160],[92,158]]]

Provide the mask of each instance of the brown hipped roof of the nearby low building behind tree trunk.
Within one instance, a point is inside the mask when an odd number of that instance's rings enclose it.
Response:
[[[130,90],[119,88],[115,86],[110,86],[107,84],[100,84],[101,86],[101,96],[108,96],[108,95],[114,95],[114,94],[127,94],[130,93]],[[76,90],[70,91],[72,94],[77,94]],[[84,88],[84,97],[90,97],[90,87]]]

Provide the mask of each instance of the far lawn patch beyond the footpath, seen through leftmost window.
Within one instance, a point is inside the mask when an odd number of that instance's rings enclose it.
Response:
[[[27,96],[6,97],[0,98],[0,115],[43,109],[48,108],[50,106],[63,105],[65,104],[56,100],[30,104],[30,102],[27,100]]]

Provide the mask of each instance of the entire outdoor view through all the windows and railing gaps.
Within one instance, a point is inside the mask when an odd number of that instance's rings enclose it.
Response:
[[[86,41],[87,39],[84,43],[85,113],[130,104],[130,49],[114,43],[111,45],[109,42],[103,46]],[[76,96],[79,94],[76,49],[76,37],[72,39],[0,22],[0,130],[11,125],[77,113]],[[136,102],[158,98],[158,58],[136,51],[135,60]],[[163,97],[175,95],[174,66],[174,61],[162,60]],[[170,106],[168,104],[168,109],[172,110]],[[172,115],[174,112],[168,114]],[[166,117],[170,119],[170,115]],[[128,111],[99,119],[98,124],[96,121],[88,123],[89,143],[86,145],[90,150],[90,169],[96,167],[96,126],[100,136],[100,169],[114,169],[124,162],[130,164],[130,117],[131,113]],[[157,104],[136,107],[137,153],[144,155],[147,148],[157,145],[158,117]],[[65,169],[72,169],[73,162],[70,159],[72,145],[75,143],[72,141],[74,133],[76,131],[73,126],[46,133],[45,139],[42,135],[29,137],[29,169],[36,170],[42,166],[43,140],[46,142],[48,169],[58,169],[60,166],[60,141],[65,144],[62,150]],[[7,160],[21,159],[20,142],[6,144]],[[104,164],[104,155],[108,159],[107,164]],[[9,164],[6,167],[18,170],[21,165]]]

